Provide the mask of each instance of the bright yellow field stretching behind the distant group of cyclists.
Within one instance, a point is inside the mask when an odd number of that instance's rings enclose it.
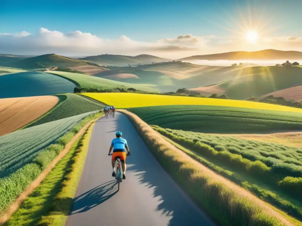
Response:
[[[214,105],[227,107],[255,108],[275,111],[302,112],[300,108],[291,108],[281,105],[273,105],[243,100],[225,100],[186,96],[165,96],[140,93],[82,93],[107,105],[117,108],[134,108],[156,105]]]

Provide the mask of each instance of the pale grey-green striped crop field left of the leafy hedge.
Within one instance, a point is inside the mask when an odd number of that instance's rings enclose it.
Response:
[[[0,177],[8,176],[34,159],[38,152],[56,143],[90,112],[18,130],[0,137]]]

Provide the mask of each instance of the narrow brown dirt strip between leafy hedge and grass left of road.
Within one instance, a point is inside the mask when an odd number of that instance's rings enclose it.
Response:
[[[59,160],[61,160],[67,154],[72,144],[85,133],[85,131],[94,121],[98,120],[99,118],[100,117],[89,121],[84,127],[82,127],[82,129],[72,138],[72,140],[66,144],[65,148],[59,153],[59,155],[47,166],[47,168],[26,187],[19,197],[6,209],[4,214],[0,216],[0,225],[5,223],[5,221],[10,218],[10,216],[18,209],[20,204],[27,198],[27,196],[29,196],[40,185],[40,183],[45,179],[47,174],[49,174],[51,169],[59,162]]]

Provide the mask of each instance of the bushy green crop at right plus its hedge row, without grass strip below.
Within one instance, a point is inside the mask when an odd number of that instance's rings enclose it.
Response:
[[[272,184],[277,187],[276,184],[278,183],[288,196],[302,201],[301,192],[299,191],[301,183],[299,181],[302,179],[299,176],[301,175],[302,166],[294,164],[302,162],[297,148],[182,130],[163,129],[158,126],[153,126],[153,129],[202,156],[218,160],[223,165],[242,171],[265,184]],[[264,157],[263,153],[267,153],[267,157]],[[291,162],[291,164],[282,161]],[[288,179],[285,180],[284,177]],[[279,183],[279,180],[282,182]]]

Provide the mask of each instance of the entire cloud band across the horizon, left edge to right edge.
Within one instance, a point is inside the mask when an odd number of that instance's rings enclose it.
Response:
[[[215,35],[194,36],[181,34],[176,37],[142,42],[120,36],[105,39],[91,33],[72,31],[62,33],[40,28],[37,33],[0,33],[0,52],[11,54],[39,55],[56,53],[60,55],[99,54],[153,54],[168,58],[182,58],[230,51],[255,51],[260,49],[302,50],[302,37],[261,37],[255,45],[248,45],[242,38],[217,37]]]

